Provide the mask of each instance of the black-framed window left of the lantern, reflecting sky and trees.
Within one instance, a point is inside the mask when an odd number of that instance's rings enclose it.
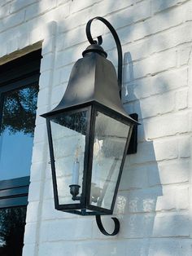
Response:
[[[41,51],[0,66],[0,255],[20,256]]]

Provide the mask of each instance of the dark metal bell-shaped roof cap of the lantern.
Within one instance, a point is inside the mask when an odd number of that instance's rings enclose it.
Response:
[[[67,89],[58,106],[42,117],[61,113],[66,108],[81,108],[96,102],[137,123],[124,111],[116,68],[106,56],[101,46],[88,46],[83,52],[83,58],[74,64]]]

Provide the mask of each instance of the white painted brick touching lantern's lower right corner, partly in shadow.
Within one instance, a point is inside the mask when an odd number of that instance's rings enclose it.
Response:
[[[139,189],[119,192],[116,201],[117,215],[147,213],[163,210],[186,210],[189,206],[188,188]]]

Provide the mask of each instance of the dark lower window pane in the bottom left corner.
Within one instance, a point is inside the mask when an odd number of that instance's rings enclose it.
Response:
[[[0,255],[21,256],[26,206],[0,209]]]

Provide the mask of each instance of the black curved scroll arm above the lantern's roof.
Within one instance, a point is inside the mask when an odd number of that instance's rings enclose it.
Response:
[[[117,76],[118,78],[117,79],[118,79],[118,84],[119,84],[119,90],[121,92],[123,55],[122,55],[122,48],[121,48],[121,45],[120,45],[120,38],[118,37],[118,35],[116,33],[116,30],[112,27],[112,25],[107,20],[105,20],[103,17],[98,16],[98,17],[94,17],[93,19],[89,20],[88,23],[86,24],[86,36],[87,36],[87,39],[88,39],[90,44],[101,45],[102,42],[103,42],[102,36],[98,36],[98,42],[94,41],[94,39],[91,36],[90,26],[91,26],[91,23],[92,23],[93,20],[102,21],[107,26],[107,28],[111,31],[111,34],[113,35],[113,38],[116,41],[116,48],[117,48],[117,53],[118,53],[118,76]]]

